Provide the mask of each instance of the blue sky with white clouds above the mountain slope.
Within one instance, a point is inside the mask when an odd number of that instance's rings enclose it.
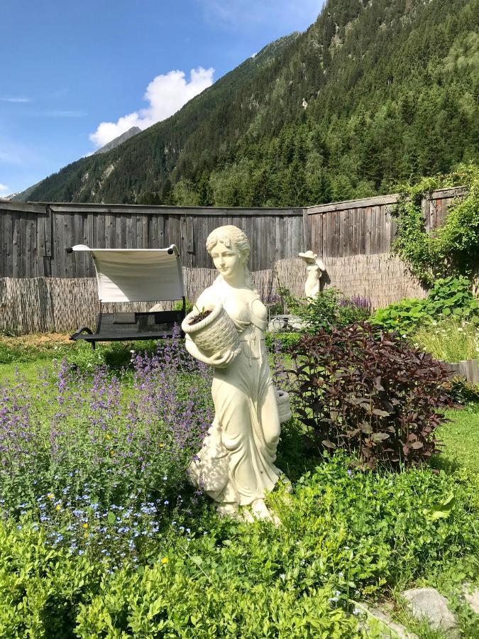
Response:
[[[180,109],[323,0],[1,0],[0,197]]]

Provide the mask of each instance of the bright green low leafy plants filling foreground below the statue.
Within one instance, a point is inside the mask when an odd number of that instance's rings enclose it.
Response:
[[[477,474],[348,462],[312,469],[289,501],[272,493],[277,528],[221,520],[202,501],[182,531],[188,506],[137,569],[52,547],[26,518],[0,520],[0,637],[352,639],[366,636],[352,599],[478,578]]]

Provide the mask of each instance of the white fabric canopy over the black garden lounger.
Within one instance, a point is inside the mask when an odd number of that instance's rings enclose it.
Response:
[[[92,256],[100,302],[158,302],[185,295],[175,244],[169,249],[89,249],[77,244],[72,250]]]

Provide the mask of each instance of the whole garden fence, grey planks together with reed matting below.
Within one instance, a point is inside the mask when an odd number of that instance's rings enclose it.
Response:
[[[464,193],[462,188],[446,189],[424,200],[426,229],[444,222],[454,197]],[[263,299],[277,293],[278,283],[294,295],[303,294],[306,271],[297,254],[307,249],[323,258],[326,287],[368,297],[373,308],[402,297],[423,297],[422,286],[390,253],[396,203],[397,195],[305,209],[0,202],[0,332],[70,332],[94,324],[99,310],[94,266],[88,255],[66,253],[74,244],[125,249],[177,244],[186,294],[194,300],[216,277],[205,241],[222,224],[246,231],[250,269]],[[116,310],[148,307],[116,305]]]

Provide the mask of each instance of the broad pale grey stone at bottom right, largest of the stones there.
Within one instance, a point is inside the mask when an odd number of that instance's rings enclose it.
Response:
[[[426,620],[431,628],[443,630],[448,638],[459,639],[456,617],[447,605],[447,599],[435,588],[413,588],[402,593],[408,602],[408,608],[417,619]]]

